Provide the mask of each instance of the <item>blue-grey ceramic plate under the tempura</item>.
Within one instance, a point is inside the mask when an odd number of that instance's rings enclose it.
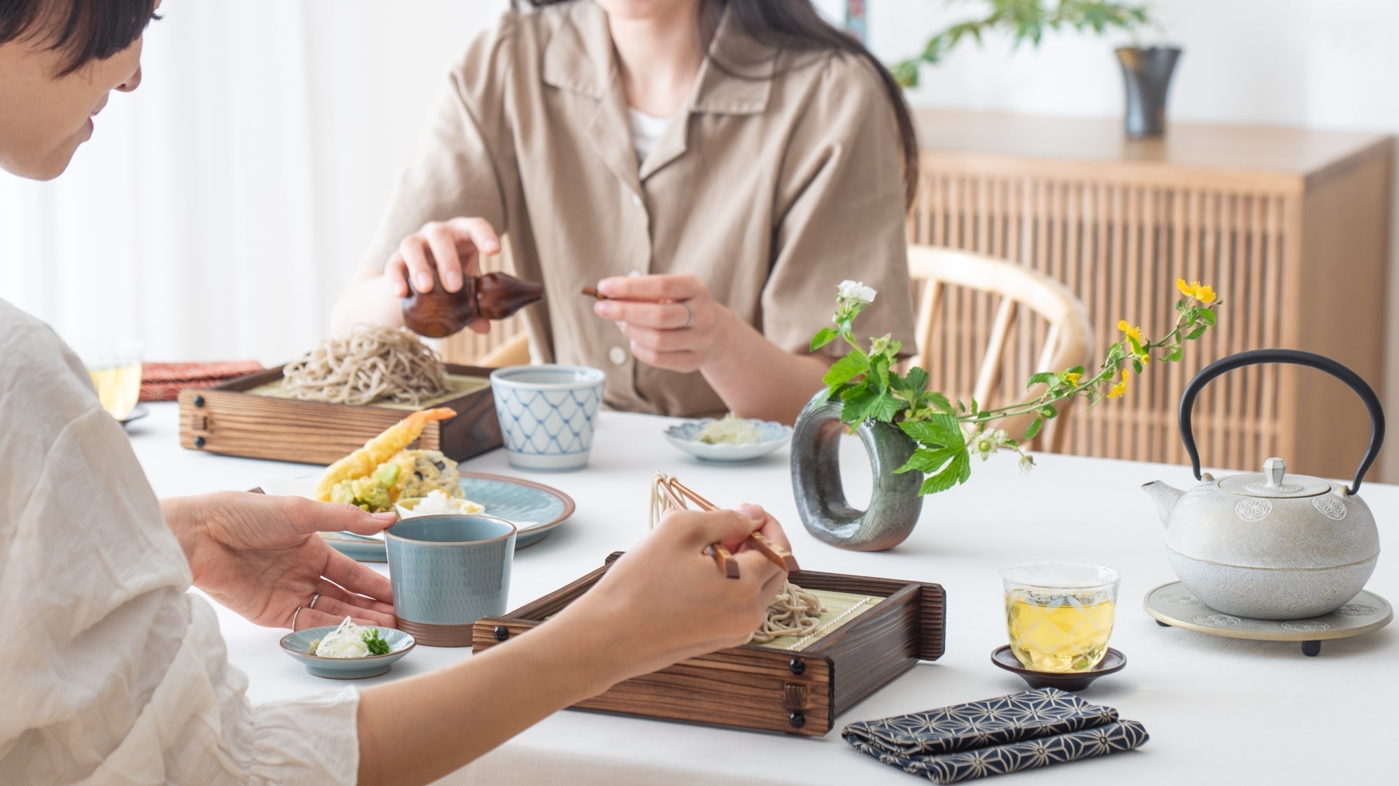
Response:
[[[267,494],[311,496],[315,477],[301,477],[287,481],[262,484]],[[557,488],[520,478],[492,476],[487,473],[462,473],[462,494],[473,502],[485,506],[485,516],[505,519],[515,524],[519,534],[515,548],[544,540],[548,533],[574,515],[574,499]],[[361,562],[385,562],[389,555],[383,536],[365,537],[354,533],[322,533],[336,551]]]

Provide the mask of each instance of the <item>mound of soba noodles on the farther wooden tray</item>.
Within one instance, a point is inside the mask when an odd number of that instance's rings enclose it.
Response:
[[[292,399],[332,404],[396,401],[420,406],[448,392],[438,354],[407,330],[357,324],[283,369]]]

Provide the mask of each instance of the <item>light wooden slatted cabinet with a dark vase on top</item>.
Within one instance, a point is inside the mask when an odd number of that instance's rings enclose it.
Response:
[[[1245,348],[1329,355],[1384,396],[1392,137],[1174,124],[1163,140],[1128,140],[1116,119],[915,115],[922,182],[912,241],[1063,281],[1087,305],[1100,350],[1118,338],[1119,319],[1164,333],[1177,277],[1212,284],[1226,301],[1219,330],[1192,344],[1184,364],[1153,365],[1125,399],[1079,408],[1066,452],[1184,462],[1182,387]],[[967,296],[946,312],[949,352],[985,345],[977,337],[993,313],[983,303]],[[1020,327],[1024,351],[1007,380],[1031,371],[1037,329]],[[971,386],[951,365],[933,371],[935,385]],[[1349,390],[1295,368],[1221,378],[1195,422],[1206,466],[1254,471],[1283,456],[1295,471],[1349,478],[1368,439]]]

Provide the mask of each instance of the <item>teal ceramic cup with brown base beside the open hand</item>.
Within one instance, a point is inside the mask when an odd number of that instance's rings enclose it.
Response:
[[[470,646],[471,624],[505,613],[515,524],[492,516],[418,516],[383,533],[400,631],[427,646]]]

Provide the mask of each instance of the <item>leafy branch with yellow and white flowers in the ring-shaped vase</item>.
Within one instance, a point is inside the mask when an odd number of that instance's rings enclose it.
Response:
[[[900,341],[886,334],[872,338],[869,351],[855,340],[855,317],[874,302],[874,290],[859,281],[842,281],[835,298],[835,327],[823,327],[811,338],[811,351],[835,338],[844,340],[851,351],[835,361],[825,373],[824,399],[838,399],[842,404],[841,421],[858,425],[866,420],[897,424],[911,436],[918,449],[895,473],[919,471],[925,480],[919,494],[936,494],[967,483],[971,477],[971,457],[988,460],[1000,449],[1020,456],[1020,470],[1034,467],[1020,441],[1004,429],[990,428],[996,421],[1034,414],[1023,439],[1034,439],[1046,420],[1058,417],[1058,404],[1073,397],[1088,400],[1093,407],[1128,392],[1132,373],[1142,375],[1154,359],[1178,362],[1185,344],[1195,341],[1216,324],[1214,309],[1221,305],[1214,290],[1199,281],[1177,280],[1181,299],[1175,303],[1177,319],[1171,331],[1158,340],[1143,336],[1142,329],[1118,322],[1122,338],[1108,347],[1107,355],[1091,376],[1083,366],[1035,373],[1025,387],[1044,385],[1045,392],[1032,401],[1021,401],[999,408],[982,410],[975,399],[970,404],[951,401],[947,396],[928,390],[928,372],[921,368],[900,375],[895,369]]]

